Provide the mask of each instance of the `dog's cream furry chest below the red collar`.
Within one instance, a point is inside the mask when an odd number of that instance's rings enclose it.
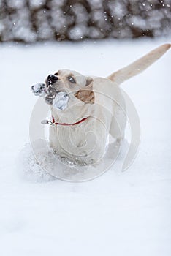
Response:
[[[50,127],[50,146],[61,157],[70,159],[96,159],[102,155],[107,131],[102,124],[94,121],[75,126]]]

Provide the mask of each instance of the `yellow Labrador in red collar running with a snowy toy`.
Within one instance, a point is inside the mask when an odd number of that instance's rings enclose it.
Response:
[[[126,113],[119,85],[159,59],[170,44],[161,45],[107,78],[61,69],[45,83],[32,86],[50,105],[50,146],[56,154],[79,165],[92,165],[104,156],[110,135],[124,137]]]

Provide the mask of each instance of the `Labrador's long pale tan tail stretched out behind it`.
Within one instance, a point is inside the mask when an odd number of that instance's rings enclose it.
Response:
[[[123,69],[114,72],[107,78],[115,83],[118,83],[119,85],[125,80],[132,78],[134,75],[137,75],[140,72],[144,71],[151,64],[153,64],[153,62],[159,59],[167,50],[169,50],[170,47],[170,44],[161,45],[158,48],[152,50],[150,53],[143,56],[142,58],[137,59],[137,61],[134,61],[129,66],[123,67]]]

